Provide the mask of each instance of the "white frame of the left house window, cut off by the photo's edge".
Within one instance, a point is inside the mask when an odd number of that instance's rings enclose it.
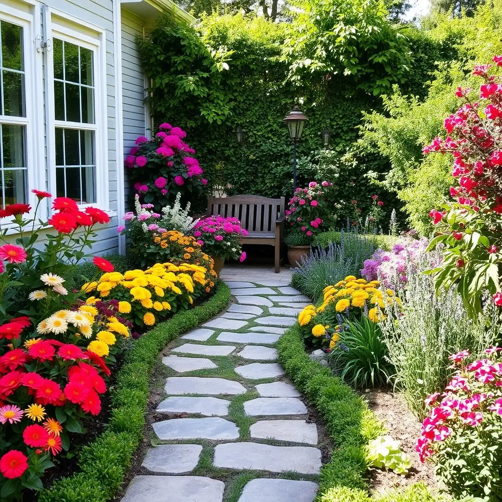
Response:
[[[40,115],[37,109],[37,102],[41,102],[41,95],[37,89],[37,82],[40,82],[40,72],[37,52],[35,50],[34,40],[37,34],[37,22],[40,24],[40,19],[34,14],[27,13],[20,9],[2,4],[0,10],[0,21],[12,23],[23,28],[23,57],[24,57],[24,74],[25,74],[25,117],[17,117],[11,115],[0,115],[0,122],[4,124],[15,124],[25,126],[26,128],[26,203],[32,205],[30,216],[35,213],[34,204],[37,200],[35,195],[31,193],[32,188],[45,189],[45,162],[40,156],[39,146],[40,141],[37,141],[37,131],[40,128]],[[39,86],[40,87],[40,86]],[[43,210],[43,208],[41,208]],[[2,224],[3,228],[15,228],[14,218],[6,220]]]

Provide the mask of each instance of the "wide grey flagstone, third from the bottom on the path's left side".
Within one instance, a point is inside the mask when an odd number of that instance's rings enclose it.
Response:
[[[163,441],[173,439],[212,439],[222,441],[237,439],[238,427],[219,417],[172,418],[152,424],[155,434]]]

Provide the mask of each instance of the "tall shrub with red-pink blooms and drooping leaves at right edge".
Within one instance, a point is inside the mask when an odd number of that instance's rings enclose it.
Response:
[[[435,138],[424,153],[453,156],[455,186],[451,199],[430,212],[438,242],[445,246],[436,286],[456,286],[472,315],[480,312],[483,293],[497,304],[502,265],[502,79],[491,72],[502,66],[476,66],[473,75],[482,83],[477,90],[458,88],[462,106],[444,121],[446,138]],[[498,306],[502,306],[499,304]]]

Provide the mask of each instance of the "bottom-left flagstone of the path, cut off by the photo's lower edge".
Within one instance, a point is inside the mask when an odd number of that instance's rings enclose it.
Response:
[[[135,476],[122,502],[221,502],[225,483],[201,476]]]

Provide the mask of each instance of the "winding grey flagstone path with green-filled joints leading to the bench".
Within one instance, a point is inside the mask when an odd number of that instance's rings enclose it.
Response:
[[[235,303],[163,351],[155,446],[122,502],[315,498],[317,426],[274,347],[309,299],[287,274],[259,280],[236,273],[227,284]]]

